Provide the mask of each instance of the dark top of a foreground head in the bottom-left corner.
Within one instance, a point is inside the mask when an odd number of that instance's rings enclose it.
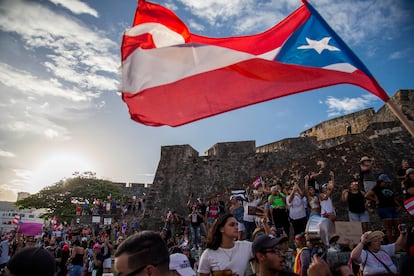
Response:
[[[52,254],[46,249],[26,247],[10,259],[7,269],[14,276],[53,276],[56,270],[56,262]]]

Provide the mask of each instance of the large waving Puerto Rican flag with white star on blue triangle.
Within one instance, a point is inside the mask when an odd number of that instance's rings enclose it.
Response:
[[[271,99],[336,84],[387,102],[368,69],[306,1],[256,35],[192,34],[170,10],[139,0],[122,42],[122,98],[131,118],[179,126]]]

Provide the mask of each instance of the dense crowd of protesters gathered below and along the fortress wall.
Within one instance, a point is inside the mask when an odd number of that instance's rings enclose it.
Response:
[[[339,203],[332,200],[333,191],[338,189],[335,173],[329,172],[324,181],[322,170],[289,183],[277,179],[261,181],[247,187],[244,193],[232,193],[226,198],[217,193],[204,201],[191,194],[188,211],[167,211],[157,231],[171,257],[170,265],[175,267],[170,269],[171,275],[414,275],[413,268],[407,266],[414,258],[412,221],[400,222],[402,212],[411,216],[414,213],[414,208],[407,207],[414,198],[414,169],[408,160],[402,161],[394,181],[398,181],[397,189],[387,174],[375,172],[373,158],[362,157],[358,170],[341,191]],[[401,195],[396,190],[402,191]],[[335,233],[329,236],[329,244],[321,237],[308,235],[306,227],[313,217],[335,224],[339,207],[335,205],[346,206],[349,221],[361,224],[359,243],[339,245]],[[116,273],[114,256],[116,259],[124,252],[117,253],[117,249],[125,239],[133,243],[144,230],[138,224],[145,205],[142,200],[106,200],[94,202],[92,207],[87,203],[79,206],[78,216],[121,210],[121,219],[106,225],[50,225],[37,240],[8,233],[1,242],[2,268],[14,269],[11,264],[16,263],[17,253],[34,247],[53,256],[54,275]],[[375,215],[382,220],[383,229],[370,225],[370,216]],[[326,256],[340,251],[349,252],[348,262],[328,264]],[[400,251],[406,252],[407,257],[397,265],[392,257]],[[149,265],[154,264],[148,261],[134,273],[150,271]],[[120,269],[124,269],[122,265]]]

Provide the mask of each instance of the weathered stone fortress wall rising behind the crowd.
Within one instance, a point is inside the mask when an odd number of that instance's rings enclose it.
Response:
[[[414,90],[400,90],[392,97],[407,118],[414,118]],[[345,121],[352,125],[346,135]],[[203,156],[190,145],[163,146],[154,183],[148,191],[144,227],[157,229],[160,217],[170,210],[187,214],[190,194],[205,201],[217,192],[226,199],[231,189],[250,185],[258,176],[297,180],[312,170],[325,172],[318,181],[328,179],[329,170],[336,172],[337,188],[333,201],[338,220],[347,220],[347,211],[340,203],[340,193],[358,171],[361,156],[376,160],[375,172],[394,176],[401,159],[414,156],[414,139],[383,106],[322,122],[305,130],[296,138],[287,138],[256,147],[255,141],[217,143]]]

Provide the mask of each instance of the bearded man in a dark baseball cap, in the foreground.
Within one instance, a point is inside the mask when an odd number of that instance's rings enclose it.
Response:
[[[276,238],[262,234],[256,236],[252,244],[253,257],[258,263],[255,276],[294,276],[285,270],[286,237]]]

